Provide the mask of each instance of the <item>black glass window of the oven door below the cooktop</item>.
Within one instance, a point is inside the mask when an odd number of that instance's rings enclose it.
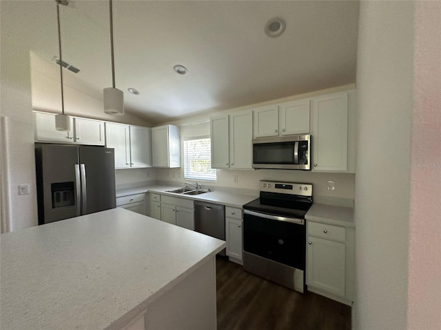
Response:
[[[243,250],[305,270],[305,225],[244,214]]]

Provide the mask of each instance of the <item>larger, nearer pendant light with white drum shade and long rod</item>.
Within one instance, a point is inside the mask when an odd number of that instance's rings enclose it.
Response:
[[[115,62],[113,51],[113,14],[112,0],[109,0],[110,7],[110,52],[112,55],[112,87],[103,89],[104,112],[110,115],[124,114],[124,94],[120,89],[115,88]]]

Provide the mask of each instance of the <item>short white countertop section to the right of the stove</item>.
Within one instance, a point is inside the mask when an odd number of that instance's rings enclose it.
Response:
[[[309,208],[305,218],[309,221],[329,223],[330,225],[341,225],[353,228],[353,208],[346,206],[334,206],[328,204],[314,203]]]

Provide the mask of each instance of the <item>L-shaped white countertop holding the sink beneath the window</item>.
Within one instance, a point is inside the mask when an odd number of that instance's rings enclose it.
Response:
[[[182,188],[183,186],[184,184],[182,184],[181,186],[168,186],[168,185],[155,184],[151,186],[125,188],[125,189],[117,190],[116,197],[134,195],[148,191],[148,192],[156,192],[161,195],[169,195],[172,197],[192,199],[195,201],[207,201],[209,203],[218,203],[218,204],[223,204],[225,206],[232,206],[234,208],[242,208],[243,204],[249,203],[250,201],[253,201],[254,199],[258,198],[258,196],[256,195],[245,195],[241,193],[236,193],[231,190],[229,191],[215,190],[212,192],[205,192],[204,194],[201,195],[191,195],[191,196],[176,194],[173,192],[167,192],[167,190],[174,190],[174,189]]]

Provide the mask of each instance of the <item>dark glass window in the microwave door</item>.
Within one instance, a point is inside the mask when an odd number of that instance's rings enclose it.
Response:
[[[254,164],[294,164],[294,142],[256,143]]]

